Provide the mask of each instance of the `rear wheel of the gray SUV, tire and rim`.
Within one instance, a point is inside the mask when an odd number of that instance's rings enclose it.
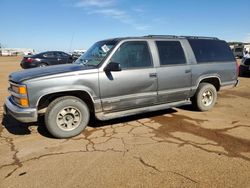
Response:
[[[200,83],[195,96],[192,98],[192,103],[196,109],[208,111],[213,108],[216,100],[216,88],[209,83]]]

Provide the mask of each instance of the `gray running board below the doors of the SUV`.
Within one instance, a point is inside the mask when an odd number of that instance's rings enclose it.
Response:
[[[124,110],[124,111],[118,111],[118,112],[111,112],[111,113],[99,112],[99,113],[96,113],[95,116],[98,120],[105,121],[105,120],[121,118],[121,117],[136,115],[136,114],[142,114],[142,113],[147,113],[147,112],[152,112],[152,111],[164,110],[164,109],[188,105],[188,104],[191,104],[191,101],[184,100],[184,101],[179,101],[179,102],[160,104],[160,105],[155,105],[155,106],[148,106],[148,107],[142,107],[142,108],[136,108],[136,109],[130,109],[130,110]]]

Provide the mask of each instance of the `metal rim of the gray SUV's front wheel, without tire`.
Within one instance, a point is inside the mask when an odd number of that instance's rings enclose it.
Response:
[[[63,131],[72,131],[76,129],[82,120],[82,114],[75,107],[63,108],[56,118],[57,126]]]

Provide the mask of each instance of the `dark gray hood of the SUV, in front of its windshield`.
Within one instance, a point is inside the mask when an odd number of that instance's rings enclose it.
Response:
[[[43,76],[50,76],[54,74],[74,72],[80,70],[93,69],[93,67],[87,67],[77,64],[66,64],[66,65],[53,65],[48,67],[39,67],[26,69],[18,72],[13,72],[9,75],[9,80],[15,83],[20,83],[24,80],[29,80],[32,78],[38,78]]]

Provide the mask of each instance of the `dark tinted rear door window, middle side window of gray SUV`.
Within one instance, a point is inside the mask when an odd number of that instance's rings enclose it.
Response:
[[[179,41],[156,41],[161,65],[185,64],[186,58]]]

